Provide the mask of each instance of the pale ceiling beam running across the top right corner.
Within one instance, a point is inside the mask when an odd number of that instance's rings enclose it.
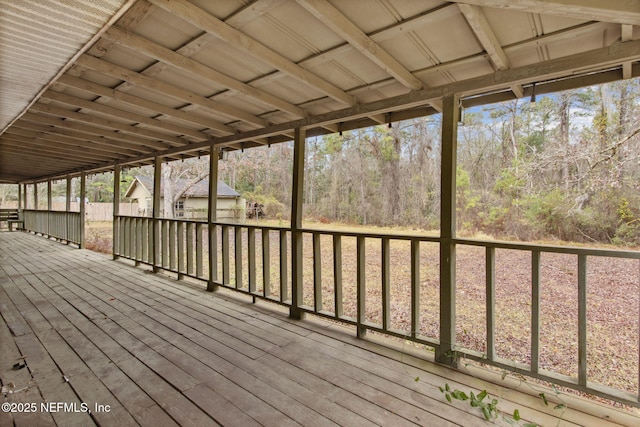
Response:
[[[454,0],[482,7],[509,9],[586,21],[640,25],[640,0]]]

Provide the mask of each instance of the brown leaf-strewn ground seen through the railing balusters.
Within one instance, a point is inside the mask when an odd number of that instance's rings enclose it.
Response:
[[[269,224],[278,225],[278,224]],[[338,227],[340,228],[340,227]],[[354,231],[352,226],[343,227]],[[336,229],[332,227],[332,229]],[[362,230],[358,230],[362,231]],[[381,228],[365,232],[383,232]],[[386,230],[387,232],[389,230]],[[418,230],[393,229],[411,234]],[[90,223],[87,247],[111,251],[111,223]],[[233,237],[233,234],[231,234]],[[206,239],[205,239],[206,241]],[[230,253],[234,253],[233,238]],[[256,247],[262,245],[256,233]],[[323,308],[333,312],[333,246],[329,235],[320,240]],[[391,240],[391,327],[411,331],[410,256],[408,241]],[[205,248],[205,250],[207,250]],[[290,263],[290,244],[288,263]],[[279,295],[279,238],[271,233],[271,289]],[[247,283],[246,233],[243,242],[243,282]],[[258,289],[262,289],[262,256],[256,251]],[[313,247],[311,234],[303,241],[304,303],[314,305]],[[218,259],[221,260],[221,254]],[[206,259],[206,257],[205,257]],[[366,317],[382,323],[381,240],[368,238],[366,262]],[[221,262],[221,261],[220,261]],[[458,246],[456,268],[458,345],[486,351],[485,250]],[[288,264],[290,265],[290,264]],[[559,374],[578,374],[578,260],[576,255],[543,253],[540,285],[540,368]],[[439,249],[436,243],[420,244],[420,333],[439,334]],[[528,251],[496,250],[495,343],[497,356],[528,364],[531,358],[531,254]],[[219,265],[218,271],[221,271]],[[230,283],[235,283],[231,257]],[[289,273],[290,276],[290,273]],[[356,316],[356,238],[342,238],[342,292],[344,314]],[[290,292],[291,278],[287,287]],[[587,263],[587,360],[590,381],[631,393],[638,390],[640,319],[640,261],[589,257]]]

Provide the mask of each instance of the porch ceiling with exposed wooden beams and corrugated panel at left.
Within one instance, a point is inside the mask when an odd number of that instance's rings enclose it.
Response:
[[[14,3],[0,0],[0,96],[15,100],[0,103],[0,182],[640,75],[637,0]]]

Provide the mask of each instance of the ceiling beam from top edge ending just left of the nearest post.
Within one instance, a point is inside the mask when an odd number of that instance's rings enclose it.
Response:
[[[396,80],[409,89],[422,89],[424,84],[405,68],[397,59],[391,56],[382,46],[367,36],[357,25],[332,6],[326,0],[296,0],[324,25],[331,28],[336,34],[345,39],[351,46],[358,49],[377,64],[380,68],[392,75]]]

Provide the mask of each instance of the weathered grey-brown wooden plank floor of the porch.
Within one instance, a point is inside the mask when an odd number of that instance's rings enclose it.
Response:
[[[554,410],[535,391],[238,298],[0,232],[0,380],[14,391],[1,399],[19,410],[0,412],[0,427],[488,425],[447,403],[445,383],[487,388],[499,408],[543,425],[640,425],[575,397]]]

